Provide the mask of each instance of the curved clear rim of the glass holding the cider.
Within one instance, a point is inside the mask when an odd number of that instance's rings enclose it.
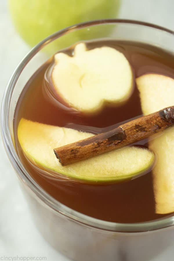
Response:
[[[132,24],[132,25],[140,25],[145,27],[150,27],[154,29],[158,29],[160,31],[167,32],[169,34],[174,35],[174,31],[164,28],[162,26],[157,26],[151,23],[145,23],[141,21],[135,20],[125,20],[125,19],[103,19],[103,20],[94,20],[88,21],[84,23],[75,24],[73,26],[69,26],[65,29],[59,30],[54,34],[48,36],[41,42],[39,42],[35,47],[33,47],[28,54],[21,60],[18,64],[14,72],[12,73],[8,84],[6,86],[2,105],[1,105],[1,135],[4,147],[6,149],[6,153],[9,157],[9,160],[19,175],[19,177],[23,180],[23,182],[39,197],[39,199],[45,202],[46,205],[51,207],[53,210],[65,215],[66,217],[79,222],[81,224],[85,224],[90,227],[95,227],[96,229],[104,229],[113,232],[143,232],[143,231],[151,231],[156,229],[162,229],[165,227],[174,225],[174,216],[161,218],[158,220],[147,221],[147,222],[139,222],[139,223],[116,223],[116,222],[108,222],[104,220],[99,220],[96,218],[92,218],[85,214],[79,213],[68,206],[60,203],[58,200],[49,195],[44,189],[42,189],[37,182],[30,176],[30,174],[23,167],[23,164],[20,162],[17,152],[14,148],[12,138],[10,135],[9,129],[9,107],[10,100],[13,93],[13,89],[19,78],[19,75],[23,71],[24,67],[28,64],[28,62],[32,59],[32,57],[39,52],[44,46],[51,43],[58,37],[62,35],[74,31],[76,29],[85,28],[88,26],[101,25],[101,24]]]

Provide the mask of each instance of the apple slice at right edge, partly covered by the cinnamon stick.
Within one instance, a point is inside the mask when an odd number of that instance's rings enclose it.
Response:
[[[142,111],[150,114],[174,104],[174,79],[158,74],[142,75],[136,79],[140,92]],[[174,127],[149,142],[157,155],[153,168],[153,186],[156,213],[174,211]]]

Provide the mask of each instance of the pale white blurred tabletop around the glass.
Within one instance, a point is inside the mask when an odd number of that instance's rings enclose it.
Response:
[[[174,30],[174,1],[123,0],[119,18],[146,21]],[[13,28],[6,0],[0,0],[0,102],[10,75],[29,50]],[[52,249],[35,229],[1,139],[0,159],[0,260],[17,256],[69,260]],[[174,250],[167,250],[151,261],[169,261],[173,256]]]

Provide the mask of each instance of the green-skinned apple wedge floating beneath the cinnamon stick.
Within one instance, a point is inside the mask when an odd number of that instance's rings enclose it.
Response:
[[[93,134],[23,118],[17,132],[23,152],[31,162],[79,180],[107,182],[129,179],[146,171],[154,162],[154,154],[151,151],[132,146],[62,167],[53,148]]]

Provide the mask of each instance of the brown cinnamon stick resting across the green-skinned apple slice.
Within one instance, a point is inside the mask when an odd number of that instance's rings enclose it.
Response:
[[[146,139],[174,124],[174,106],[139,117],[119,127],[87,139],[55,148],[62,166]]]

